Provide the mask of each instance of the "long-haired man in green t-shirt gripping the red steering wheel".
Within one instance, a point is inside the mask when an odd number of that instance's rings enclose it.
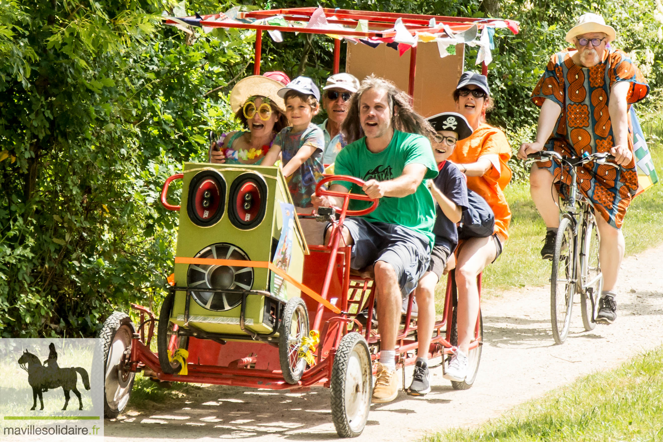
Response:
[[[434,241],[435,206],[424,180],[435,178],[438,168],[430,141],[422,135],[432,137],[435,132],[414,113],[409,95],[373,76],[361,82],[353,95],[341,131],[350,144],[336,156],[334,173],[361,178],[365,185],[359,189],[333,182],[330,190],[363,190],[379,199],[372,213],[345,219],[342,235],[345,244],[352,246],[351,268],[373,266],[375,271],[381,365],[373,402],[390,402],[398,395],[394,349],[402,297],[414,290],[428,270]],[[339,206],[342,199],[316,196],[312,202],[316,208]],[[365,204],[352,201],[351,208]]]

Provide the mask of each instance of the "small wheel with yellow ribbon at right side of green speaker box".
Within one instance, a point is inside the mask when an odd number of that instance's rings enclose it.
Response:
[[[282,318],[278,329],[278,359],[284,380],[296,384],[306,369],[306,359],[298,357],[302,339],[308,336],[308,311],[304,300],[290,298]]]

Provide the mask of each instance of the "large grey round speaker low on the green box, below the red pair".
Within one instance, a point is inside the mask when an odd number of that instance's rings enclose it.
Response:
[[[194,258],[249,260],[249,256],[244,250],[229,243],[218,243],[208,246],[196,253]],[[189,288],[196,288],[196,290],[192,290],[191,296],[202,307],[215,311],[229,310],[241,303],[241,294],[206,292],[204,289],[251,290],[251,287],[253,287],[253,267],[189,264],[189,269],[186,273],[186,285]]]

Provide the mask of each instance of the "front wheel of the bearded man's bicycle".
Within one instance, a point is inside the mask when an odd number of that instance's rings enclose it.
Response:
[[[573,226],[570,219],[562,218],[555,239],[552,275],[550,276],[550,323],[552,324],[552,337],[558,344],[566,341],[571,326],[573,294],[575,294],[574,254]]]

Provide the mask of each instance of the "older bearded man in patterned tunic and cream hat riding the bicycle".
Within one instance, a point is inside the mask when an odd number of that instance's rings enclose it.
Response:
[[[607,324],[617,317],[614,290],[625,248],[621,226],[638,189],[629,109],[649,92],[629,56],[609,45],[615,38],[615,28],[606,25],[600,15],[587,13],[577,19],[566,34],[566,41],[574,47],[554,54],[534,87],[532,101],[541,108],[536,140],[522,144],[518,152],[521,159],[544,149],[565,156],[585,152],[615,156],[619,168],[588,163],[577,178],[579,191],[594,207],[601,235],[603,291],[596,320]],[[568,170],[554,161],[532,166],[530,193],[547,227],[541,250],[544,259],[552,259],[560,225],[557,192],[570,180]]]

